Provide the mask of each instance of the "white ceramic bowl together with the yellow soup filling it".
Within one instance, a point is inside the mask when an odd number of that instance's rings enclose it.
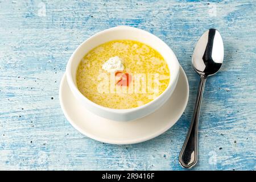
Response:
[[[74,96],[88,110],[115,121],[152,113],[175,89],[176,56],[162,40],[139,28],[109,28],[85,40],[67,65]]]

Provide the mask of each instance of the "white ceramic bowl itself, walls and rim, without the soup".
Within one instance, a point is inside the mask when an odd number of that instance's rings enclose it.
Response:
[[[76,85],[76,71],[82,57],[84,57],[84,55],[94,47],[111,40],[118,39],[137,40],[151,46],[164,57],[170,69],[170,82],[166,90],[164,90],[160,96],[156,97],[155,100],[132,109],[112,109],[98,105],[82,95],[79,89],[77,89]],[[113,119],[115,121],[130,121],[142,118],[145,115],[154,112],[168,100],[172,92],[174,92],[177,84],[179,77],[179,62],[177,61],[177,58],[174,52],[172,52],[171,48],[155,35],[139,28],[118,26],[98,32],[89,39],[85,40],[85,42],[83,42],[70,57],[66,68],[66,74],[68,85],[72,93],[76,99],[79,100],[81,104],[84,105],[89,111],[92,111],[92,113],[97,114],[100,117]]]

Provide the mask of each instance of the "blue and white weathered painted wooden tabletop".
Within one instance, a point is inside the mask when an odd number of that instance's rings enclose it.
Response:
[[[0,1],[0,169],[180,170],[199,76],[193,47],[208,28],[225,46],[221,71],[206,84],[193,169],[255,170],[255,1]],[[159,36],[187,73],[180,120],[147,142],[115,146],[73,129],[59,105],[65,65],[81,42],[128,25]]]

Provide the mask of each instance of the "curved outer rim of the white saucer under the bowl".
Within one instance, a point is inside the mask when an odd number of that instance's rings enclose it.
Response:
[[[180,69],[181,69],[181,72],[184,74],[185,76],[185,83],[187,85],[187,94],[186,94],[186,101],[185,101],[185,104],[183,105],[183,108],[180,109],[182,110],[182,112],[180,112],[181,114],[177,115],[177,119],[175,119],[176,121],[174,123],[171,123],[170,125],[167,125],[166,127],[163,127],[163,129],[161,130],[158,130],[157,132],[153,133],[153,134],[150,134],[150,135],[147,135],[146,137],[141,137],[141,138],[138,138],[138,139],[127,139],[127,140],[109,140],[109,139],[104,139],[102,137],[97,137],[96,135],[93,135],[93,134],[90,134],[84,130],[82,130],[79,125],[76,124],[76,122],[73,121],[73,119],[71,119],[68,115],[68,112],[67,110],[65,109],[64,107],[64,104],[63,104],[63,100],[61,98],[62,97],[62,92],[61,92],[61,88],[63,87],[63,84],[64,84],[64,80],[67,79],[67,76],[66,76],[66,73],[64,73],[63,77],[61,78],[61,81],[60,81],[60,86],[59,86],[59,101],[60,101],[60,106],[61,106],[61,110],[63,111],[64,115],[65,115],[65,118],[68,120],[68,122],[77,130],[79,131],[81,134],[85,135],[86,137],[89,137],[91,139],[94,139],[94,140],[97,140],[98,142],[103,142],[103,143],[109,143],[109,144],[135,144],[135,143],[141,143],[141,142],[146,142],[147,140],[150,140],[150,139],[153,139],[155,137],[158,137],[159,135],[162,135],[163,133],[165,133],[166,131],[168,131],[172,126],[175,125],[175,123],[177,121],[179,121],[181,115],[183,114],[185,108],[187,107],[188,105],[188,98],[189,98],[189,84],[188,84],[188,78],[187,78],[187,75],[184,71],[184,69],[181,67],[180,65]],[[181,74],[180,74],[181,75]],[[179,81],[179,80],[178,80]],[[172,97],[172,96],[171,96]],[[162,107],[162,106],[161,106]],[[161,108],[160,107],[160,108]],[[159,108],[159,109],[160,109]],[[86,108],[85,108],[86,109]],[[90,112],[90,111],[89,111]],[[91,114],[93,114],[92,112],[90,112]],[[154,113],[154,112],[153,112]],[[152,113],[151,113],[152,114]],[[96,114],[94,114],[96,115]],[[129,122],[129,121],[127,121]]]

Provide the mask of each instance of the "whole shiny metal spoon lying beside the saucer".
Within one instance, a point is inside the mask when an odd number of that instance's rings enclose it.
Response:
[[[200,83],[191,126],[189,127],[187,138],[179,156],[179,163],[184,168],[191,168],[197,163],[197,130],[204,85],[208,76],[212,76],[218,72],[223,59],[224,46],[220,32],[211,28],[204,32],[196,43],[195,51],[192,56],[192,65],[195,71],[200,75]]]

